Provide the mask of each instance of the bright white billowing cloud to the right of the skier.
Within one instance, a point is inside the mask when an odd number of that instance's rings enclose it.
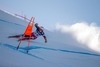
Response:
[[[95,24],[80,22],[73,25],[63,25],[58,23],[56,29],[63,33],[72,34],[80,44],[100,52],[100,28]]]

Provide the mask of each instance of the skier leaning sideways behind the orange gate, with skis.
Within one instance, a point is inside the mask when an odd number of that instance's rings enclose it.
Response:
[[[43,38],[45,40],[45,43],[47,43],[47,38],[46,38],[45,33],[43,31],[43,27],[39,27],[38,23],[35,24],[35,27],[36,27],[36,31],[32,32],[31,37],[25,35],[22,39],[19,39],[18,41],[20,41],[20,40],[28,40],[29,38],[32,39],[32,40],[34,40],[38,36],[43,36]],[[8,38],[20,38],[20,37],[22,37],[22,35],[23,34],[15,35],[15,36],[9,36]]]

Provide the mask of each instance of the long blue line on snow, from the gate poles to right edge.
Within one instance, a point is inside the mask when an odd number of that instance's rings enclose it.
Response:
[[[20,49],[27,50],[27,47],[21,47]],[[30,46],[29,50],[32,49],[45,49],[45,50],[52,50],[52,51],[61,51],[61,52],[67,52],[67,53],[74,53],[74,54],[83,54],[83,55],[90,55],[90,56],[99,56],[99,54],[93,54],[89,52],[79,52],[74,50],[63,50],[63,49],[55,49],[55,48],[48,48],[48,47],[40,47],[40,46]]]

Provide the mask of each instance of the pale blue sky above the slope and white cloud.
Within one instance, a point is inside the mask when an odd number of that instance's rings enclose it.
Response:
[[[100,25],[100,0],[0,0],[0,9],[31,18],[51,30],[57,23]]]

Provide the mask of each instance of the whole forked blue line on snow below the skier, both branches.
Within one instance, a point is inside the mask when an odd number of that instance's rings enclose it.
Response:
[[[13,50],[17,50],[15,46],[12,46],[10,44],[0,44],[0,45],[4,46],[4,47],[8,47],[8,48],[13,49]],[[23,50],[27,50],[27,47],[19,47],[19,49],[22,49],[22,50],[18,50],[19,52],[27,54],[25,51],[23,51]],[[82,54],[82,55],[100,57],[99,54],[93,54],[93,53],[88,53],[88,52],[78,52],[78,51],[74,51],[74,50],[55,49],[55,48],[48,48],[48,47],[41,47],[41,46],[30,46],[28,50],[33,50],[33,49],[45,49],[45,50],[52,50],[52,51],[58,51],[58,52],[66,52],[66,53]],[[45,60],[45,59],[40,58],[38,56],[32,55],[31,53],[28,53],[28,55],[32,56],[32,57],[35,57],[37,59]]]

